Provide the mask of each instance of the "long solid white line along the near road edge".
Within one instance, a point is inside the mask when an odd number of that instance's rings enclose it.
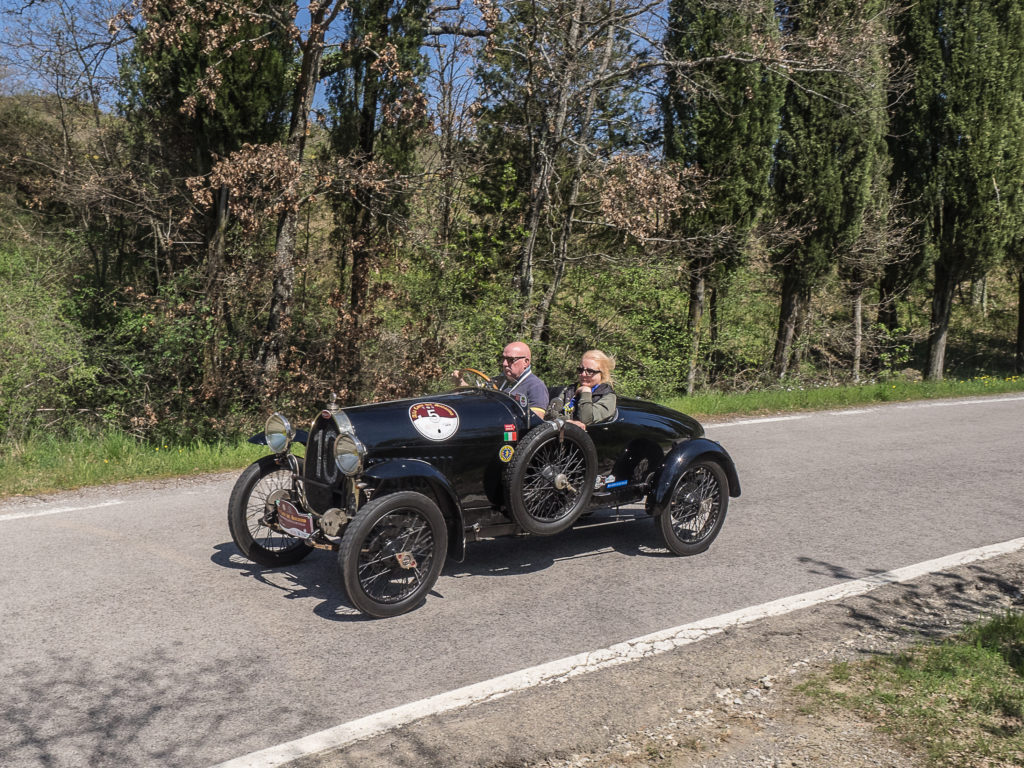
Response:
[[[683,645],[689,645],[706,638],[718,635],[733,627],[750,624],[768,616],[781,615],[794,610],[809,608],[820,603],[843,598],[855,597],[870,592],[879,587],[890,584],[908,582],[927,573],[966,565],[972,562],[987,560],[1024,548],[1024,539],[993,544],[988,547],[967,550],[954,555],[940,557],[935,560],[896,568],[886,573],[844,582],[833,587],[793,595],[779,600],[755,605],[750,608],[723,613],[712,618],[663,630],[650,635],[644,635],[623,643],[616,643],[608,648],[580,653],[567,658],[549,662],[527,670],[514,672],[493,680],[486,680],[475,685],[468,685],[458,690],[439,693],[436,696],[413,701],[401,707],[395,707],[376,715],[370,715],[358,720],[337,725],[333,728],[312,733],[303,738],[287,743],[270,746],[254,752],[241,758],[220,763],[214,768],[271,768],[291,760],[313,755],[327,750],[337,750],[354,741],[370,738],[398,726],[420,720],[430,715],[437,715],[461,707],[489,701],[515,691],[524,690],[538,685],[559,683],[577,675],[629,664],[641,658],[665,653]]]

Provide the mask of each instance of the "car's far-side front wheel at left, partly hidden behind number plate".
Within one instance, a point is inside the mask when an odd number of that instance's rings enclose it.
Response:
[[[301,467],[302,460],[299,459]],[[264,520],[276,499],[291,499],[292,472],[272,456],[250,464],[239,477],[227,502],[227,527],[234,545],[255,563],[275,567],[292,565],[312,552],[301,539],[281,534]]]

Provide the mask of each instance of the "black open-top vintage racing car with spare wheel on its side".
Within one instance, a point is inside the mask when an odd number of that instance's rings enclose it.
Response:
[[[265,566],[335,550],[351,603],[384,617],[423,602],[469,542],[550,536],[646,499],[637,517],[693,555],[739,496],[732,459],[688,416],[620,397],[612,418],[585,431],[543,421],[478,372],[464,376],[481,386],[351,408],[332,396],[308,431],[273,414],[251,438],[273,455],[242,473],[228,502],[238,548]]]

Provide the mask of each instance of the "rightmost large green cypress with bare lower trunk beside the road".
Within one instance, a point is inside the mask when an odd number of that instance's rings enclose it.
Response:
[[[913,70],[894,109],[895,179],[918,201],[932,266],[926,376],[942,379],[956,286],[1002,257],[1020,221],[1020,69],[1024,8],[1017,0],[915,0],[899,15],[900,54]]]

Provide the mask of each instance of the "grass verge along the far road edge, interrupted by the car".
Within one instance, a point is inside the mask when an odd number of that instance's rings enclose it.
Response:
[[[668,399],[664,403],[701,419],[1020,391],[1024,391],[1024,379],[1019,376],[979,376],[965,381],[894,381],[858,387],[711,392]],[[0,443],[0,499],[84,485],[241,469],[265,454],[264,446],[245,440],[174,445],[141,442],[116,432],[61,439],[41,435]]]

